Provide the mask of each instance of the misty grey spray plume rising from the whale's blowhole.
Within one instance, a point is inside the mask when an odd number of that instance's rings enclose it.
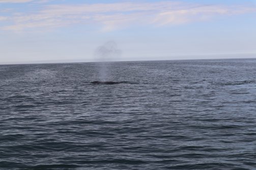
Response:
[[[109,62],[120,57],[121,50],[118,49],[114,41],[109,41],[95,50],[95,56],[100,62],[99,76],[100,81],[107,81],[110,79]]]

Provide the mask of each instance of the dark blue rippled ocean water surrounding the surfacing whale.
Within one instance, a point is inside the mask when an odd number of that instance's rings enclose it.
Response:
[[[256,169],[256,59],[0,65],[0,169]]]

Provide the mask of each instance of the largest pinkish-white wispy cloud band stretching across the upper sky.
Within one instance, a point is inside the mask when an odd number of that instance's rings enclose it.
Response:
[[[51,29],[79,23],[100,24],[101,30],[111,31],[134,24],[158,26],[185,24],[210,20],[216,16],[251,12],[255,13],[256,8],[246,5],[224,6],[180,2],[48,5],[37,13],[13,14],[8,17],[9,24],[4,25],[2,29],[14,31],[34,28]]]

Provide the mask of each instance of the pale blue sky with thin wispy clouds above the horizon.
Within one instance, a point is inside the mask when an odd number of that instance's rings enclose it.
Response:
[[[0,0],[0,64],[256,58],[256,0]]]

